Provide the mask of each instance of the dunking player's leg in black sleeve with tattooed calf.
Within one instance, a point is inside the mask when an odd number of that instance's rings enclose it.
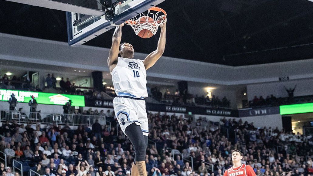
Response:
[[[141,127],[136,123],[132,123],[126,127],[125,133],[135,148],[135,163],[137,171],[140,176],[146,176],[146,142]]]

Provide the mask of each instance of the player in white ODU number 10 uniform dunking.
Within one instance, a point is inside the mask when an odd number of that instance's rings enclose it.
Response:
[[[146,148],[148,145],[148,118],[146,103],[146,70],[162,56],[165,49],[166,23],[160,25],[161,34],[157,48],[145,60],[134,59],[134,48],[121,43],[122,26],[115,28],[108,65],[117,97],[113,100],[115,115],[122,131],[135,148],[135,161],[131,167],[132,176],[146,176]],[[118,55],[121,54],[121,57]]]

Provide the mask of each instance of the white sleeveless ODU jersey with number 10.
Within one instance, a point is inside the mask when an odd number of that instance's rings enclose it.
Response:
[[[111,74],[116,95],[148,97],[146,68],[142,60],[118,57],[117,65]]]

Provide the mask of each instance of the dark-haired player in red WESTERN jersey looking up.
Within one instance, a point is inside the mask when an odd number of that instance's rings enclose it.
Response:
[[[242,153],[239,150],[233,150],[233,167],[227,169],[224,176],[256,176],[251,166],[241,163],[242,158]]]

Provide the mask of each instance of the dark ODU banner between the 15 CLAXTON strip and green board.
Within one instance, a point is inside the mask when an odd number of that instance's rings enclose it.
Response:
[[[279,107],[246,108],[238,110],[239,117],[279,114]]]

